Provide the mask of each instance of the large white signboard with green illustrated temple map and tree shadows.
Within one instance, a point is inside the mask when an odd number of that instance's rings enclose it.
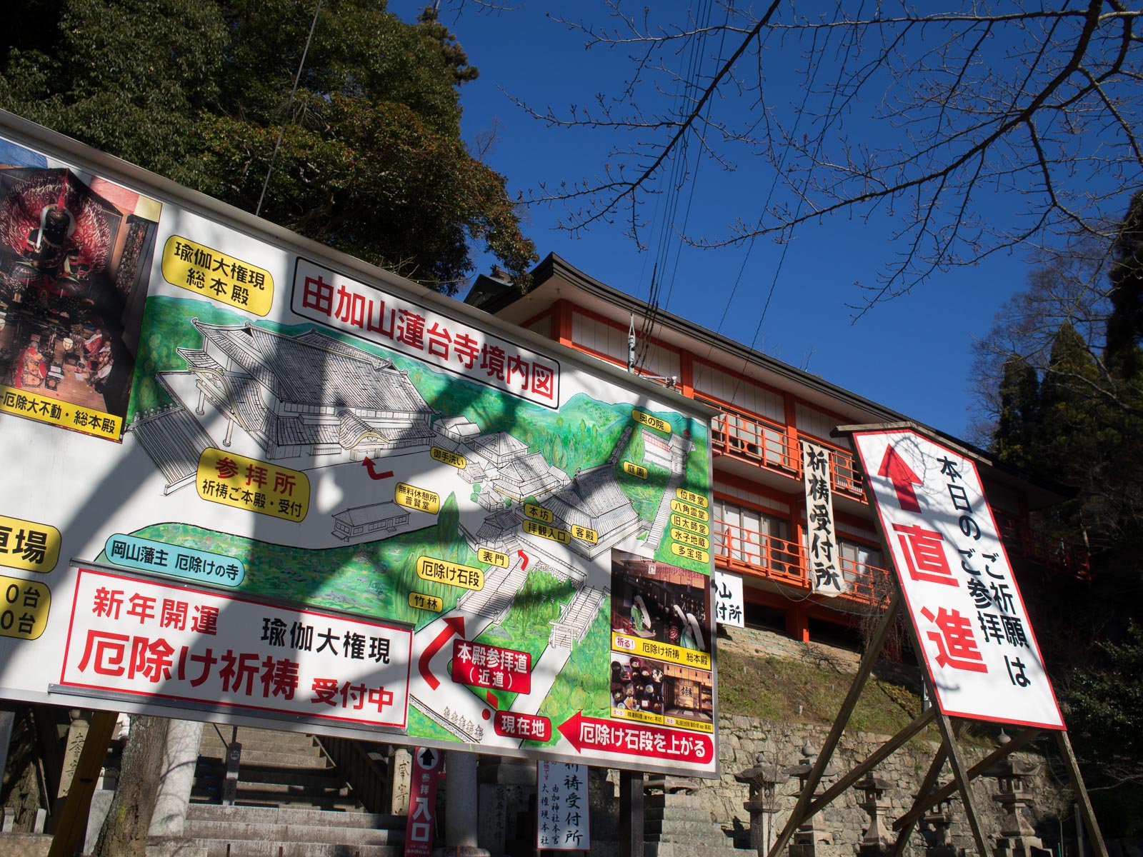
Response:
[[[2,122],[0,697],[716,772],[701,407]]]

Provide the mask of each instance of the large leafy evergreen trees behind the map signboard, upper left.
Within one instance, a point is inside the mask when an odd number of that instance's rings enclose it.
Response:
[[[521,285],[535,248],[459,138],[477,77],[430,8],[371,0],[23,0],[0,106],[446,294],[483,245]],[[15,25],[13,25],[13,22]]]

